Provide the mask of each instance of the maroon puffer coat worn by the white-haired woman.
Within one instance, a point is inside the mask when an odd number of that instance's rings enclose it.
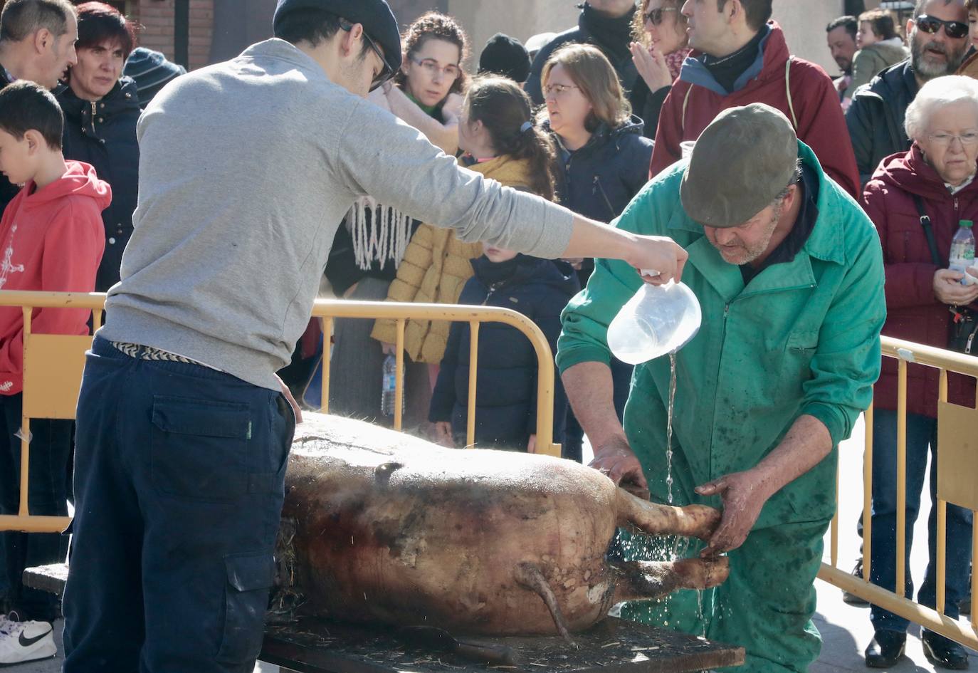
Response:
[[[886,324],[883,335],[946,347],[952,315],[934,296],[934,264],[912,195],[923,200],[942,259],[948,258],[959,220],[978,221],[978,180],[952,196],[944,181],[914,144],[910,151],[884,158],[866,185],[863,204],[876,225],[886,268]],[[908,368],[907,411],[937,417],[938,370]],[[974,406],[975,381],[952,375],[948,397]],[[877,409],[897,408],[897,361],[883,358],[875,387]]]

